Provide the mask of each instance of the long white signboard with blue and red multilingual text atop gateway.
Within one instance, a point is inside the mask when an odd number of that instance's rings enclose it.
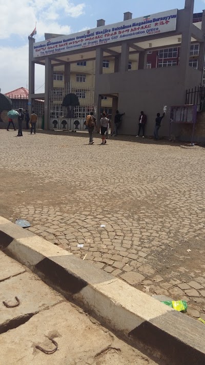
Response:
[[[142,16],[125,22],[60,36],[33,45],[33,56],[42,57],[102,44],[137,39],[176,30],[177,9]],[[136,40],[135,40],[136,42]]]

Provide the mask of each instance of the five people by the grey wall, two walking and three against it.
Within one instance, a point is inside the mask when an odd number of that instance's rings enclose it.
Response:
[[[114,131],[112,132],[111,136],[116,137],[117,133],[118,133],[118,128],[121,124],[121,120],[122,120],[122,116],[124,116],[125,113],[120,114],[119,111],[116,111],[115,114],[115,119],[114,119]],[[165,117],[165,112],[163,112],[162,116],[160,116],[160,113],[157,113],[157,117],[155,119],[155,129],[154,129],[154,138],[155,140],[158,140],[158,130],[161,126],[161,121],[163,119],[163,117]],[[140,136],[140,132],[142,130],[142,138],[145,138],[145,126],[146,126],[146,122],[147,122],[147,116],[144,113],[144,111],[141,111],[140,116],[139,116],[139,126],[138,126],[138,134],[136,137]],[[108,137],[108,131],[109,131],[109,124],[110,124],[110,120],[108,118],[108,115],[104,112],[101,119],[100,119],[100,133],[101,133],[101,138],[102,138],[102,142],[101,144],[106,144],[106,137]],[[94,128],[97,131],[97,124],[96,124],[96,118],[93,115],[93,112],[91,112],[86,119],[86,125],[88,127],[88,132],[89,132],[89,144],[93,144],[93,131]]]

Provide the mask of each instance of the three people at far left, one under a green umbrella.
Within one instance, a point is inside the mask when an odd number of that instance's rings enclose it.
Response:
[[[18,134],[17,137],[22,137],[23,133],[22,133],[22,124],[24,122],[24,120],[26,121],[26,129],[31,129],[31,135],[34,131],[34,135],[36,133],[36,122],[37,122],[37,115],[32,112],[31,116],[29,116],[29,111],[28,109],[26,109],[26,113],[23,112],[22,108],[18,109],[18,116],[17,116],[17,120],[18,120]],[[10,125],[13,125],[13,129],[15,129],[13,120],[11,118],[9,118],[9,124],[7,126],[7,130],[9,131],[9,127]]]

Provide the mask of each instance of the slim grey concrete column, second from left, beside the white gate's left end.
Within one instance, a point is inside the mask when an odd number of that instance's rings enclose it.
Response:
[[[50,121],[50,84],[51,84],[51,59],[46,57],[45,59],[45,129],[49,129]]]

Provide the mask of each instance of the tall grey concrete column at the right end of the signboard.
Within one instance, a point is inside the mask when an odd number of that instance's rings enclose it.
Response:
[[[185,82],[186,74],[189,68],[194,0],[186,0],[184,12],[185,16],[183,18],[183,30],[182,30],[181,50],[180,50],[180,68],[181,68],[182,82]]]

